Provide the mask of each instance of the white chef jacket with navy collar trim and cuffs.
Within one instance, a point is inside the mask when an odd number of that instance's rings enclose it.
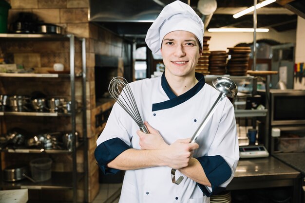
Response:
[[[219,95],[203,75],[196,73],[196,78],[199,82],[180,96],[171,91],[164,74],[129,84],[143,121],[157,129],[167,144],[190,138]],[[140,149],[138,129],[115,103],[96,142],[95,158],[103,172],[117,172],[106,165],[124,150]],[[173,184],[168,166],[128,170],[119,203],[210,203],[210,195],[224,190],[232,180],[239,159],[234,109],[228,98],[220,102],[196,142],[199,148],[193,157],[203,166],[212,187],[197,184],[179,170],[176,178],[182,175],[184,179]]]

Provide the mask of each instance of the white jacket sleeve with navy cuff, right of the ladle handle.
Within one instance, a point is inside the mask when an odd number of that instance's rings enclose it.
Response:
[[[229,102],[227,100],[226,102]],[[225,105],[214,141],[207,156],[198,157],[211,187],[197,185],[210,197],[226,189],[234,177],[239,160],[235,114],[232,105]]]

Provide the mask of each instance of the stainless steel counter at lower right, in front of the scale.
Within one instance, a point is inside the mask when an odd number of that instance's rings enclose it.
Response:
[[[255,189],[269,187],[293,187],[292,203],[299,203],[301,174],[278,159],[240,159],[235,176],[227,190]]]

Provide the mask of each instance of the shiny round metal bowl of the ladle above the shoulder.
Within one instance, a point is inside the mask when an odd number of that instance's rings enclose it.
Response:
[[[237,95],[237,86],[233,80],[228,77],[217,77],[212,81],[213,86],[226,96],[234,98]]]

